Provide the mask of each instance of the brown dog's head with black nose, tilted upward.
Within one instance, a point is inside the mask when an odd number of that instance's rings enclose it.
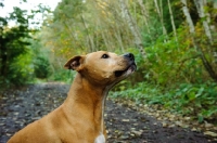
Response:
[[[133,54],[117,55],[105,51],[74,56],[64,67],[77,70],[90,82],[102,86],[115,84],[137,68]]]

